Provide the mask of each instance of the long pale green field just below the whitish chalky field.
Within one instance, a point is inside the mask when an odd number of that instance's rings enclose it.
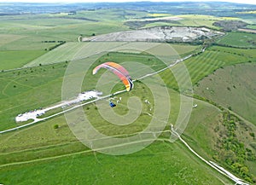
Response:
[[[150,43],[145,43],[145,44],[147,44],[147,46],[144,46],[145,49],[147,49],[147,47],[154,47],[154,45],[157,46],[157,44],[155,43],[152,43],[152,46],[150,46]],[[174,59],[177,59],[178,55],[180,56],[188,55],[189,53],[192,53],[195,49],[198,49],[197,46],[191,46],[188,44],[170,44],[170,46],[172,47],[172,50],[173,50],[172,55],[175,57]],[[49,51],[47,54],[42,55],[41,57],[38,57],[37,59],[29,62],[28,64],[26,64],[26,66],[38,66],[39,64],[44,65],[44,64],[52,64],[52,63],[58,63],[63,61],[75,61],[90,55],[94,55],[97,52],[100,53],[100,52],[108,51],[110,49],[120,50],[120,49],[129,49],[129,48],[136,49],[136,48],[143,48],[143,46],[139,47],[137,43],[126,43],[126,42],[65,43],[64,45],[61,45],[57,49]],[[142,53],[142,52],[143,51],[131,51],[131,55],[133,53]],[[136,61],[136,57],[140,57],[140,56],[134,54],[134,57],[133,57],[134,61]],[[132,56],[131,56],[131,59],[132,59]],[[120,59],[116,59],[116,60],[120,60]],[[122,60],[122,61],[125,61],[125,60]]]

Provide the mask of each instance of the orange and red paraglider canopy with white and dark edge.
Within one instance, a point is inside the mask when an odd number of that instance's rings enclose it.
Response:
[[[130,91],[133,88],[131,76],[129,75],[129,72],[127,72],[124,66],[121,66],[113,61],[108,61],[99,66],[96,66],[93,69],[92,74],[96,74],[96,72],[98,72],[98,70],[102,67],[116,74],[122,80],[123,84],[125,84],[125,88],[127,91]]]

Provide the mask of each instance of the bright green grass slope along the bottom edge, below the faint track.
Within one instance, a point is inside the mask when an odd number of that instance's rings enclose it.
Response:
[[[222,184],[216,171],[186,152],[180,143],[155,142],[125,156],[81,153],[1,168],[4,184]],[[221,180],[218,180],[220,178]]]

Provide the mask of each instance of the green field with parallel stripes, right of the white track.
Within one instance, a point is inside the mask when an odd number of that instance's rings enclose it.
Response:
[[[184,61],[184,64],[189,71],[192,84],[196,85],[202,78],[212,74],[220,67],[255,62],[255,53],[255,49],[230,49],[213,46],[207,49],[203,54],[193,56]],[[183,65],[174,66],[172,70],[180,74],[180,81],[185,80],[183,79],[182,72]],[[161,75],[166,79],[166,84],[169,87],[178,89],[176,80],[171,73],[161,72]]]

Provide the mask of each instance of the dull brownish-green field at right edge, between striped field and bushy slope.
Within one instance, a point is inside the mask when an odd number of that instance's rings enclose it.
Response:
[[[234,112],[255,124],[255,74],[255,63],[226,66],[204,78],[195,88],[195,93],[223,107],[231,107]]]

